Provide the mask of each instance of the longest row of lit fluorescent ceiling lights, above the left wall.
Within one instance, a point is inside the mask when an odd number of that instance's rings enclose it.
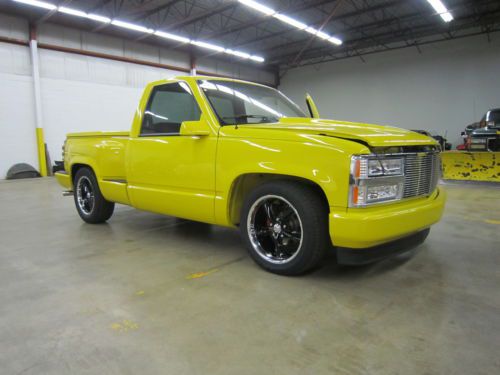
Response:
[[[88,19],[98,21],[98,22],[103,22],[103,23],[111,23],[112,25],[117,26],[117,27],[122,27],[122,28],[129,29],[129,30],[139,31],[139,32],[143,32],[146,34],[154,34],[160,38],[175,40],[175,41],[181,42],[181,43],[190,43],[190,44],[193,44],[193,45],[201,47],[201,48],[206,48],[206,49],[210,49],[212,51],[225,53],[225,54],[232,55],[232,56],[237,56],[241,59],[252,60],[255,62],[259,62],[259,63],[262,63],[265,61],[263,57],[257,56],[257,55],[251,55],[247,52],[232,50],[229,48],[226,49],[226,48],[224,48],[222,46],[218,46],[216,44],[203,42],[200,40],[191,40],[191,39],[183,37],[181,35],[167,33],[167,32],[161,31],[161,30],[153,30],[153,29],[150,29],[150,28],[147,28],[147,27],[144,27],[141,25],[137,25],[134,23],[126,22],[126,21],[121,21],[121,20],[116,20],[116,19],[112,20],[108,17],[104,17],[104,16],[94,14],[94,13],[86,13],[86,12],[84,12],[82,10],[78,10],[78,9],[68,8],[68,7],[64,7],[64,6],[57,7],[54,4],[47,3],[44,1],[38,1],[38,0],[12,0],[12,1],[15,1],[17,3],[27,4],[27,5],[33,5],[33,6],[36,6],[39,8],[44,8],[44,9],[49,9],[49,10],[56,10],[57,9],[58,12],[68,14],[71,16],[88,18]],[[247,2],[248,3],[255,3],[254,1],[247,1]],[[262,9],[264,9],[264,8],[266,8],[266,7],[263,7]]]

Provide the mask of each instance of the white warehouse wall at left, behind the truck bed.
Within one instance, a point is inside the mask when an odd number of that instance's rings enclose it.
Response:
[[[38,42],[151,63],[190,68],[189,55],[121,38],[44,23]],[[27,41],[26,20],[0,15],[0,36]],[[39,49],[42,121],[52,162],[61,160],[65,135],[79,131],[129,130],[144,86],[183,71]],[[198,69],[274,84],[257,66],[200,59]],[[35,104],[29,47],[0,42],[0,179],[15,163],[38,169]]]

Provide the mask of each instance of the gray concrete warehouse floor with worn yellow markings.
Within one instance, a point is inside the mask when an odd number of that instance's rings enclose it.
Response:
[[[0,373],[498,374],[500,190],[445,188],[412,254],[289,278],[232,230],[0,182]]]

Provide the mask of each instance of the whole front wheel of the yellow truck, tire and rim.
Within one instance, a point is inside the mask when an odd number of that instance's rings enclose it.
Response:
[[[331,247],[328,207],[311,186],[266,182],[245,199],[240,234],[259,266],[280,275],[300,275],[317,267]]]

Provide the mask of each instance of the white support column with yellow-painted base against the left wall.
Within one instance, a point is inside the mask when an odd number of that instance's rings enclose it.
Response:
[[[33,92],[35,96],[35,126],[36,143],[38,147],[38,167],[40,175],[47,176],[47,158],[45,152],[45,138],[42,124],[42,95],[40,92],[40,70],[38,65],[38,45],[36,41],[36,27],[30,25],[30,54],[31,73],[33,77]]]

